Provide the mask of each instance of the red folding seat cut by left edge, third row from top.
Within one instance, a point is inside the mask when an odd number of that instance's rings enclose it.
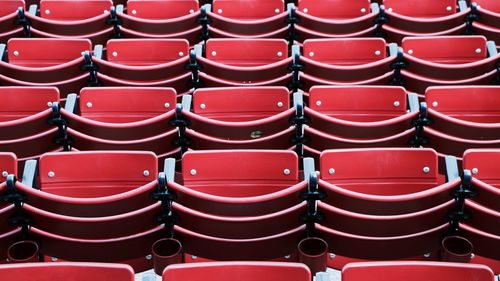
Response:
[[[59,101],[54,87],[0,87],[0,151],[14,152],[20,160],[53,151],[57,127],[49,125],[51,106]]]

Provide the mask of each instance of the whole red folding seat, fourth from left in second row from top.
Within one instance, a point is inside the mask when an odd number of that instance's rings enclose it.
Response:
[[[316,84],[364,84],[392,75],[396,46],[381,38],[309,39],[304,42],[301,78]],[[385,83],[384,83],[385,84]]]

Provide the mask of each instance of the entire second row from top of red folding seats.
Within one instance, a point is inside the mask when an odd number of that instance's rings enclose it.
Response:
[[[85,85],[174,87],[181,94],[250,85],[307,92],[325,84],[404,85],[423,97],[429,86],[500,81],[495,43],[482,36],[411,37],[401,48],[380,38],[314,39],[291,52],[282,39],[210,39],[194,49],[179,39],[123,39],[91,48],[80,39],[11,39],[0,45],[7,59],[0,81],[56,86],[62,97]]]

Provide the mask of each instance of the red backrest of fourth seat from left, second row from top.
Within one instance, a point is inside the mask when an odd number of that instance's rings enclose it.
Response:
[[[382,38],[308,39],[304,42],[304,56],[334,65],[359,65],[387,57],[386,42]]]

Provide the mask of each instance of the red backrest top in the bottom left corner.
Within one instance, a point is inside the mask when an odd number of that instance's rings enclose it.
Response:
[[[2,281],[133,281],[134,271],[129,265],[55,262],[0,265]]]

